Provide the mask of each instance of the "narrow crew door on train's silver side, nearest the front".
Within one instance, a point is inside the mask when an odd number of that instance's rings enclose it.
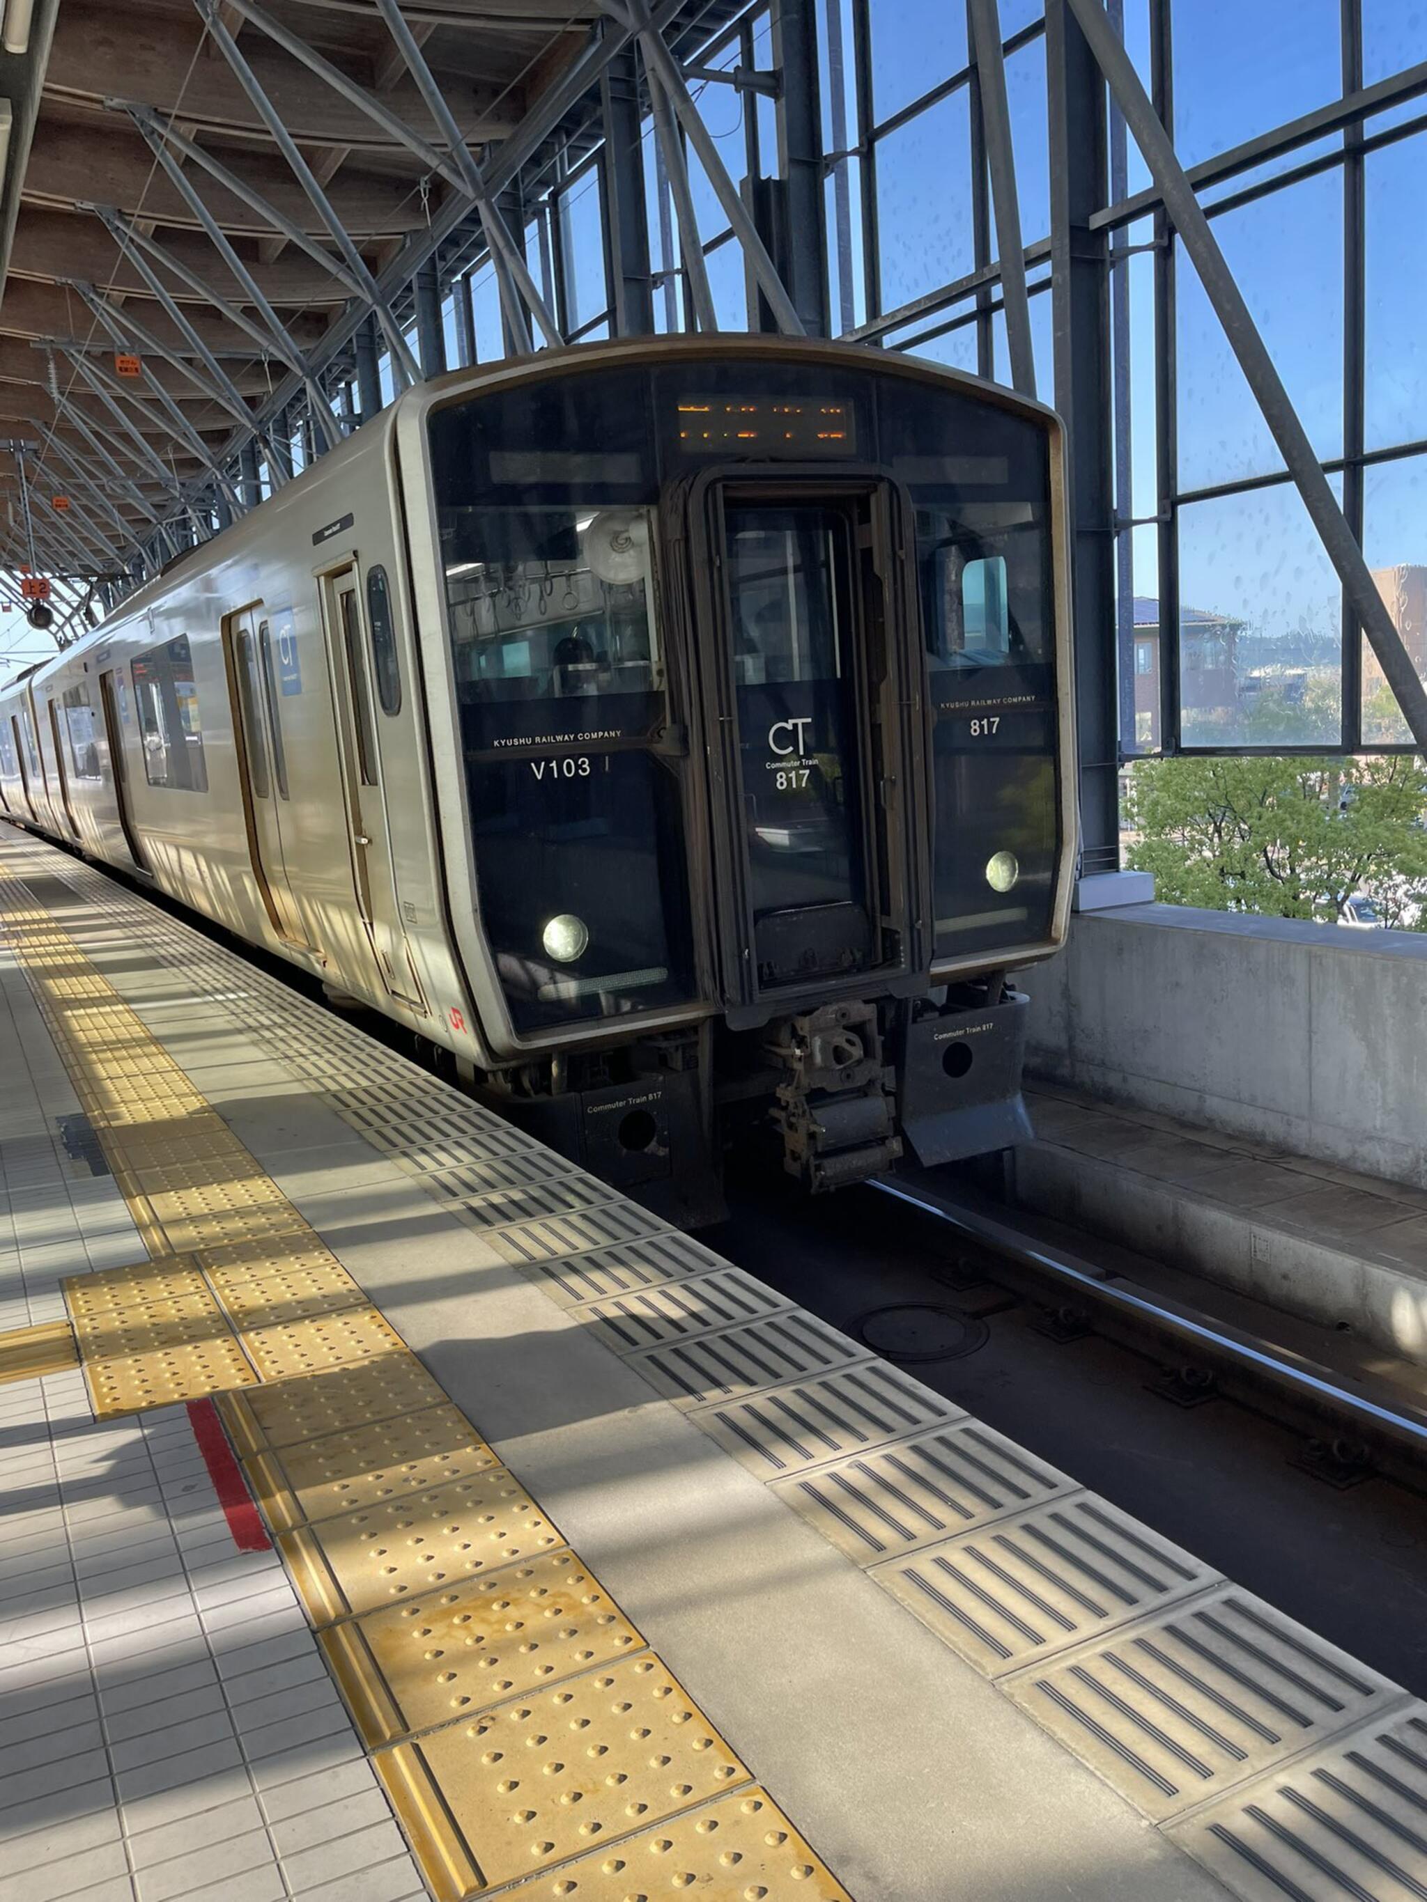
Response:
[[[342,763],[352,888],[386,991],[424,1014],[426,999],[407,949],[396,900],[396,871],[386,831],[382,763],[371,670],[371,643],[358,590],[358,567],[348,563],[322,576],[322,618],[331,658],[337,738]]]

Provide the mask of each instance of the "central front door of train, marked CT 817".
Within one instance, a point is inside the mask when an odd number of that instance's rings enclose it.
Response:
[[[915,970],[906,643],[885,483],[714,481],[710,730],[731,1002]]]

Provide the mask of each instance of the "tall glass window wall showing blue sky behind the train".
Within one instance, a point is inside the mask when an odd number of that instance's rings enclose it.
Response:
[[[1058,0],[1060,4],[1060,0]],[[1010,378],[965,0],[807,0],[816,23],[828,329]],[[1191,167],[1279,373],[1427,673],[1427,8],[1402,0],[1107,0]],[[706,10],[700,17],[710,17]],[[679,57],[744,202],[778,175],[767,0]],[[1037,390],[1054,388],[1045,0],[1001,0]],[[1054,36],[1050,36],[1054,38]],[[573,340],[613,327],[603,127],[548,148],[508,223]],[[685,131],[719,327],[757,321],[742,247]],[[639,122],[658,331],[694,327],[691,234]],[[1115,650],[1124,755],[1391,749],[1408,732],[1113,107],[1107,209]],[[443,261],[451,367],[514,346],[491,266]],[[774,245],[776,247],[776,245]],[[472,262],[474,259],[474,262]],[[537,337],[538,344],[538,337]],[[392,394],[382,361],[382,392]],[[1077,428],[1085,428],[1077,415]],[[1109,611],[1107,611],[1109,612]],[[1086,637],[1086,630],[1081,630]]]

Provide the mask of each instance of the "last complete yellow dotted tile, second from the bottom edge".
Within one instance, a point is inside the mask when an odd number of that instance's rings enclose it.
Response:
[[[626,1659],[379,1752],[405,1809],[420,1776],[440,1792],[485,1885],[506,1883],[658,1824],[746,1782],[683,1685],[653,1657]],[[394,1775],[396,1771],[396,1775]]]

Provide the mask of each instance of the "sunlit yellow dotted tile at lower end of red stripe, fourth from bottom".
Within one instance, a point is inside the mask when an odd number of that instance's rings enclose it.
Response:
[[[314,1619],[377,1611],[563,1544],[504,1466],[283,1533]]]

